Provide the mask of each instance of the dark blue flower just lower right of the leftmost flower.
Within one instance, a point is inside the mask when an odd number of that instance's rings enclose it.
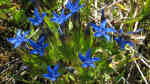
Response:
[[[29,40],[30,45],[34,48],[30,51],[30,54],[40,54],[40,56],[44,55],[44,49],[48,46],[48,43],[44,44],[45,36],[42,36],[37,43],[33,40]]]

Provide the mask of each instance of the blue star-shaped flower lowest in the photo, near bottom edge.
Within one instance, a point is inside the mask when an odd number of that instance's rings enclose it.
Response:
[[[59,64],[57,64],[54,69],[51,69],[50,66],[47,67],[48,74],[43,74],[43,77],[48,78],[49,80],[55,81],[57,77],[60,76],[58,72]]]

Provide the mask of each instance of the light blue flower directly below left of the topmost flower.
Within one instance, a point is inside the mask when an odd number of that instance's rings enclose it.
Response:
[[[54,18],[51,19],[52,22],[56,22],[58,24],[64,23],[72,14],[69,13],[67,15],[64,15],[64,9],[62,10],[61,15],[57,15],[56,12],[53,12]]]

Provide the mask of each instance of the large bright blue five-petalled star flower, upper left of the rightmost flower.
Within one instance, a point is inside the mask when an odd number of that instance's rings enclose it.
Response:
[[[104,19],[101,22],[100,26],[97,26],[96,24],[91,23],[93,29],[96,31],[94,33],[95,37],[101,37],[104,36],[107,40],[110,40],[110,36],[107,34],[108,32],[116,32],[114,28],[106,28],[106,19]]]

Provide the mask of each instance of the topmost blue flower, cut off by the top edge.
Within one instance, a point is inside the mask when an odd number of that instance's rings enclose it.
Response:
[[[77,0],[74,4],[71,2],[71,0],[68,0],[66,4],[66,8],[71,10],[72,13],[78,12],[80,8],[83,8],[84,5],[79,6],[80,0]]]

